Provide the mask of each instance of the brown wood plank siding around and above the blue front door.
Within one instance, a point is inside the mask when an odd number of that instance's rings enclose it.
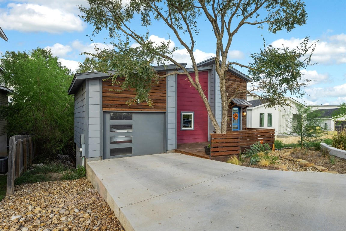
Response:
[[[244,79],[237,77],[235,74],[231,72],[227,72],[226,74],[226,92],[229,96],[233,96],[237,91],[246,91],[247,85]],[[246,93],[239,94],[236,98],[245,99]],[[242,115],[242,129],[246,129],[246,116]],[[240,116],[240,115],[239,115]],[[232,108],[228,109],[228,121],[227,121],[227,132],[232,131]]]

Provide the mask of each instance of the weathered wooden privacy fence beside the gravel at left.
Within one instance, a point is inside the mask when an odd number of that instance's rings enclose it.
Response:
[[[13,194],[15,179],[27,170],[27,164],[32,163],[35,156],[36,148],[30,135],[10,137],[6,195]]]

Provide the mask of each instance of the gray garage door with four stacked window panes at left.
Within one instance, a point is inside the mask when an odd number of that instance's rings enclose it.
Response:
[[[163,153],[164,131],[164,113],[104,113],[104,159]]]

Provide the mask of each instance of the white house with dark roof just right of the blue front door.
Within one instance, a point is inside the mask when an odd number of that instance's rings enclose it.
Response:
[[[247,127],[275,128],[275,135],[284,135],[285,115],[295,114],[295,105],[301,104],[297,100],[287,97],[288,106],[265,108],[265,104],[258,97],[249,96],[247,100],[252,106],[247,108]]]

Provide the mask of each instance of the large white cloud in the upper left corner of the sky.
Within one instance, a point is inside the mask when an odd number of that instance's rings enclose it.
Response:
[[[20,32],[62,33],[83,31],[86,24],[78,17],[71,2],[36,1],[34,3],[9,3],[2,8],[1,27]],[[78,1],[80,2],[80,1]],[[42,5],[44,3],[45,5]],[[48,4],[47,4],[48,3]],[[78,8],[77,8],[78,9]]]

